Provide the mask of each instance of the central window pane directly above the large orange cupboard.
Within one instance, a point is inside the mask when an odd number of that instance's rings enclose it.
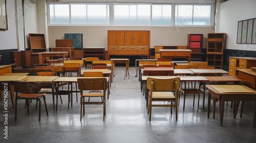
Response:
[[[114,25],[151,25],[151,5],[114,4]]]

